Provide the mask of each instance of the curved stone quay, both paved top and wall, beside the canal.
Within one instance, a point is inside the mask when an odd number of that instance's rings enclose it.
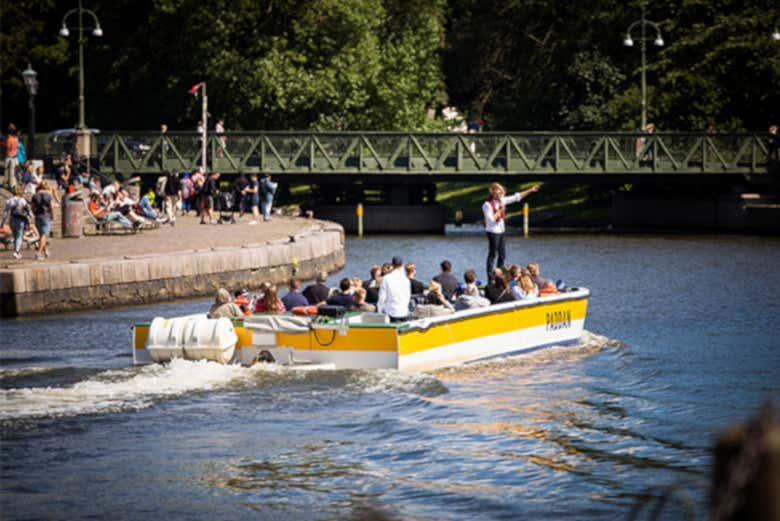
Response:
[[[176,226],[135,234],[55,239],[51,256],[21,260],[0,250],[0,316],[59,313],[212,296],[224,287],[284,286],[295,275],[344,267],[344,229],[314,219],[272,217],[249,225],[200,225],[179,217]],[[282,287],[280,287],[280,290]]]

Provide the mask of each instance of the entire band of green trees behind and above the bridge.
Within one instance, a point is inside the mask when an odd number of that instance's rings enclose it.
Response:
[[[75,0],[3,2],[2,121],[22,129],[21,71],[39,73],[38,129],[77,119]],[[639,1],[84,0],[87,124],[194,130],[437,130],[446,105],[487,130],[635,129],[640,53],[621,45]],[[776,0],[647,4],[666,45],[649,45],[648,115],[660,129],[764,129],[780,121]],[[73,27],[76,17],[69,18]],[[87,19],[85,19],[87,20]],[[90,24],[87,24],[90,25]],[[638,39],[634,31],[634,39]]]

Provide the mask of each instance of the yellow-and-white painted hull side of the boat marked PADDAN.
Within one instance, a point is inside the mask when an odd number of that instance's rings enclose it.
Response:
[[[251,320],[237,320],[233,362],[248,365],[267,351],[282,364],[433,370],[577,343],[585,325],[588,297],[587,289],[579,289],[401,324],[365,323],[360,315],[316,319],[308,330],[297,333],[261,331]],[[148,324],[135,326],[136,364],[151,362],[146,352],[148,334]]]

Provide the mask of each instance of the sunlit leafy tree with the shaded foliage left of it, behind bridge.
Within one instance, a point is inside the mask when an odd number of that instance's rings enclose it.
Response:
[[[186,93],[206,81],[209,111],[230,130],[429,128],[428,109],[446,101],[439,58],[444,5],[87,1],[104,30],[86,47],[88,124],[156,129],[165,121],[172,130],[194,130],[200,107]],[[3,61],[5,92],[23,94],[20,79],[11,77],[26,65],[24,49],[33,42],[40,42],[39,72],[62,80],[56,91],[42,81],[39,101],[56,92],[58,104],[39,110],[44,129],[75,123],[77,47],[73,36],[56,35],[67,7],[38,0],[3,14],[4,54],[12,56]],[[29,30],[9,30],[9,21]]]

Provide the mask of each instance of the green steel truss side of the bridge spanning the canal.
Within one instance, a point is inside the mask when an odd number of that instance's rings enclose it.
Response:
[[[658,181],[659,176],[697,181],[737,176],[759,181],[768,177],[766,138],[761,133],[242,132],[209,134],[207,169],[269,172],[290,181],[312,176],[334,181],[507,176],[584,182],[595,177],[635,182]],[[193,171],[201,163],[199,139],[195,132],[103,131],[93,138],[93,158],[106,174]]]

